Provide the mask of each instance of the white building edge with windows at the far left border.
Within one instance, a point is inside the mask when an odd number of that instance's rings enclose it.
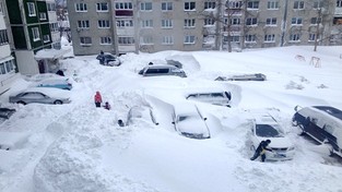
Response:
[[[19,76],[15,73],[15,59],[11,55],[9,32],[5,24],[5,5],[0,0],[0,94],[8,91],[12,82]]]

